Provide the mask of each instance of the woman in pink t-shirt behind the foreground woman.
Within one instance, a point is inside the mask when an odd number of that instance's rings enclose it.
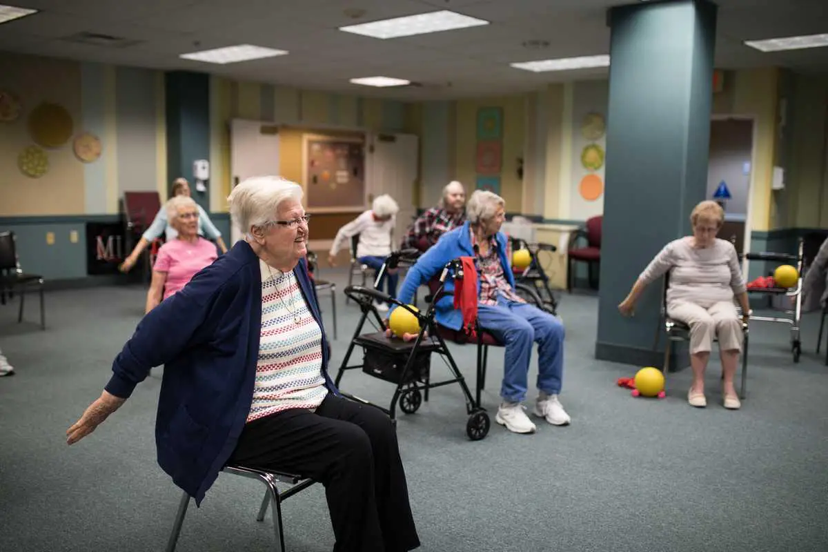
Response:
[[[198,271],[218,258],[214,243],[199,236],[199,209],[192,198],[176,195],[166,202],[166,215],[178,236],[158,250],[147,292],[147,312],[181,290]]]

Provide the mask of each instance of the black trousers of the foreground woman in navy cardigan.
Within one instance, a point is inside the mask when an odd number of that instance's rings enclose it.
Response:
[[[329,394],[315,412],[283,410],[253,420],[230,463],[322,483],[334,552],[404,552],[420,545],[397,434],[373,406]]]

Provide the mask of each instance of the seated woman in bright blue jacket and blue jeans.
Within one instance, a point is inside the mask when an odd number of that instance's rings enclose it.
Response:
[[[564,362],[564,327],[559,319],[527,305],[514,289],[514,276],[508,263],[507,240],[500,227],[505,218],[505,202],[497,194],[477,190],[466,206],[467,222],[449,233],[424,253],[402,282],[398,299],[409,304],[415,290],[437,276],[447,262],[458,257],[473,257],[478,281],[478,320],[481,328],[506,345],[503,358],[503,384],[495,421],[515,433],[534,433],[535,424],[523,411],[526,398],[532,343],[537,343],[537,388],[534,407],[537,416],[552,425],[567,425],[570,416],[561,406],[561,377]],[[454,290],[449,281],[446,291]],[[436,304],[436,320],[446,328],[459,330],[463,319],[453,308],[450,296]]]

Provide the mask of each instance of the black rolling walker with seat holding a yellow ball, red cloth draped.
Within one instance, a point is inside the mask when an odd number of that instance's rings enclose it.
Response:
[[[419,252],[407,250],[392,253],[381,267],[377,280],[383,275],[384,271],[396,268],[402,261],[411,260],[412,253],[416,255]],[[460,260],[455,259],[448,262],[440,274],[440,287],[437,294],[435,294],[435,298],[442,292],[447,278],[457,280],[462,279],[462,277],[463,271]],[[479,399],[472,395],[463,374],[460,373],[454,358],[451,357],[445,340],[440,337],[440,333],[437,331],[435,322],[436,300],[432,299],[426,311],[423,312],[402,304],[402,302],[393,299],[388,294],[363,286],[348,286],[344,292],[345,295],[349,295],[351,299],[359,304],[362,316],[359,318],[359,323],[354,330],[354,338],[351,340],[339,367],[339,372],[336,374],[335,385],[339,386],[345,371],[359,368],[362,368],[363,372],[370,376],[396,384],[397,387],[388,409],[378,406],[394,420],[397,401],[399,401],[400,410],[406,414],[413,414],[422,404],[423,395],[421,391],[426,393],[427,401],[429,389],[458,383],[463,390],[466,413],[469,416],[466,421],[466,435],[474,441],[484,439],[489,434],[491,425],[489,414],[480,406]],[[412,341],[404,341],[398,337],[386,337],[385,324],[374,305],[375,300],[386,302],[388,305],[397,305],[397,308],[405,309],[413,314],[420,326],[416,338]],[[362,334],[364,324],[372,315],[373,320],[377,322],[378,331]],[[363,362],[349,366],[348,362],[351,354],[354,353],[354,348],[358,345],[363,348]],[[451,372],[450,379],[442,382],[431,381],[431,353],[437,353],[444,359]],[[477,385],[479,389],[481,386],[479,371]],[[349,396],[346,393],[343,394]],[[479,397],[479,391],[477,396]],[[359,397],[349,397],[357,401],[368,402]]]

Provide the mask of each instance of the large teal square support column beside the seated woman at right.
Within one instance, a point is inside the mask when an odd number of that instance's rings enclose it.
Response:
[[[623,318],[618,305],[667,242],[691,233],[691,210],[705,199],[716,7],[702,0],[641,2],[611,8],[608,23],[595,357],[661,367],[663,333],[655,344],[661,282],[643,294],[633,318]]]

